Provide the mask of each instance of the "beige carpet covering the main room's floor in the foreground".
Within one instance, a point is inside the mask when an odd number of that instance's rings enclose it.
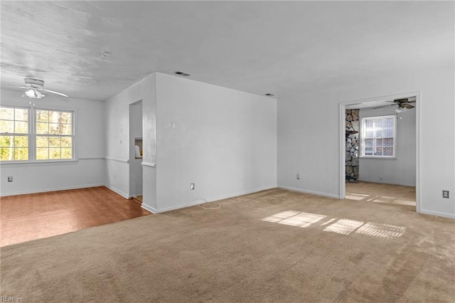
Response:
[[[454,302],[455,221],[274,189],[1,248],[25,302]]]

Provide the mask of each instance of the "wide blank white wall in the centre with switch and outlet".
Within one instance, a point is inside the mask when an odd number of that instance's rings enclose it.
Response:
[[[156,210],[276,187],[276,113],[275,99],[157,73]]]

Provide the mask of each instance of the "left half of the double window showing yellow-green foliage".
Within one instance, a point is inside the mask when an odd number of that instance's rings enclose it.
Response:
[[[28,160],[28,108],[0,108],[0,160]]]

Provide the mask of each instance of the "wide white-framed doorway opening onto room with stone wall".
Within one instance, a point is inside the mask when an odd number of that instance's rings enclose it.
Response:
[[[410,92],[340,104],[341,198],[419,211],[419,101]]]

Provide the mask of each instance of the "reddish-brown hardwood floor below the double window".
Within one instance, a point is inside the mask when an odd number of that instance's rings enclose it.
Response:
[[[104,186],[6,196],[0,198],[0,246],[150,214]]]

